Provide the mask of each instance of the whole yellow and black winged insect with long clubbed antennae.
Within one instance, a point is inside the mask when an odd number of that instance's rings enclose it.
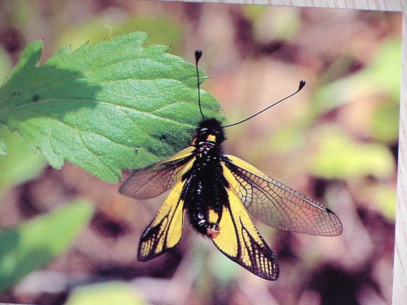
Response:
[[[280,229],[311,235],[342,233],[339,218],[327,207],[286,187],[254,166],[231,155],[223,155],[223,128],[234,126],[299,92],[298,90],[260,112],[228,126],[206,119],[198,101],[202,121],[189,147],[147,168],[136,170],[124,182],[124,195],[147,199],[172,188],[157,216],[143,232],[138,260],[148,261],[181,239],[184,218],[201,234],[209,236],[229,259],[256,276],[277,280],[277,258],[258,233],[246,209],[259,221]],[[187,215],[187,216],[186,216]]]

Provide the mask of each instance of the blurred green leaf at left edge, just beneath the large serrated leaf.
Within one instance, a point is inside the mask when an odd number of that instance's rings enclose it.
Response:
[[[41,154],[35,154],[21,137],[12,134],[5,126],[0,127],[0,135],[7,146],[7,156],[0,157],[1,195],[7,187],[37,177],[46,163]]]

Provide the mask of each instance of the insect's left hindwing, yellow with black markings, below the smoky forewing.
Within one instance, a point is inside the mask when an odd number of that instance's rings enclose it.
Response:
[[[148,261],[171,248],[181,239],[184,223],[184,200],[181,196],[187,180],[179,180],[169,193],[157,216],[144,230],[138,245],[138,260]]]

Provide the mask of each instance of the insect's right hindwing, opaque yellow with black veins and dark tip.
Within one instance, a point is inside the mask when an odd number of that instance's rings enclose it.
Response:
[[[229,259],[256,276],[275,281],[279,268],[275,255],[254,227],[233,189],[226,189],[229,202],[223,207],[219,235],[212,238]]]

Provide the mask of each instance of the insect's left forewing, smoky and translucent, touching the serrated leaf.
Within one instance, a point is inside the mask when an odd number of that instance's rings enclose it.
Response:
[[[192,166],[195,147],[185,148],[172,157],[135,170],[119,192],[135,199],[154,198],[169,190]]]

